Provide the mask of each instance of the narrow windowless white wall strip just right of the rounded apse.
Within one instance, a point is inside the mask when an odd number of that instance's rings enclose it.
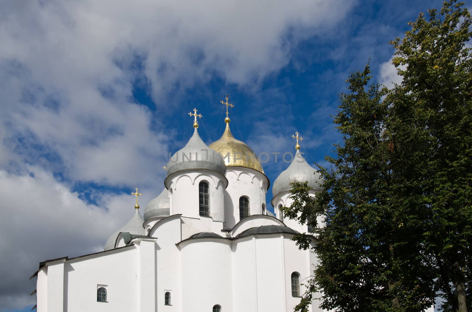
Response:
[[[248,237],[238,240],[237,243],[233,243],[232,250],[233,311],[254,311],[255,291],[252,238]]]

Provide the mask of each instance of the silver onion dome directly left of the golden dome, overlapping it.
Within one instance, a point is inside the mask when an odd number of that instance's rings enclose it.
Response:
[[[184,148],[170,157],[167,176],[186,169],[207,169],[225,175],[226,165],[218,152],[209,148],[198,135],[197,128]]]

